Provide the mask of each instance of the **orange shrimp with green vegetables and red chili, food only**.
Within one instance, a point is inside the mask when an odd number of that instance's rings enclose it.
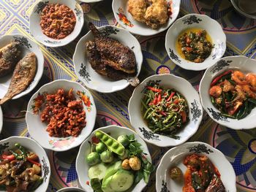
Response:
[[[209,94],[225,117],[245,118],[256,107],[256,74],[228,70],[214,78]]]

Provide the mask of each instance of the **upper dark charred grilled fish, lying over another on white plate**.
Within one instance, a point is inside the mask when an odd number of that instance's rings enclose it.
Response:
[[[89,28],[94,34],[94,42],[102,64],[128,74],[136,72],[135,54],[129,47],[122,45],[116,39],[101,34],[92,23],[89,23]]]

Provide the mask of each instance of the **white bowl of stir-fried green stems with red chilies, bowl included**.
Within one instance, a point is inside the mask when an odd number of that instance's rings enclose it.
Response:
[[[130,123],[140,137],[159,147],[186,142],[203,118],[195,88],[173,74],[146,78],[133,91],[128,110]]]

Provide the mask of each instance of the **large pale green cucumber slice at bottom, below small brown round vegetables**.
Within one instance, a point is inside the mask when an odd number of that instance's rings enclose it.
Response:
[[[133,181],[134,176],[132,172],[119,169],[118,172],[112,176],[112,180],[110,181],[110,188],[117,192],[127,191],[127,189],[132,186]]]

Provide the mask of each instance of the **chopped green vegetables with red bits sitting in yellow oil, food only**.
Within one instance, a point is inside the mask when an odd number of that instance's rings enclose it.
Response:
[[[184,57],[195,63],[202,63],[211,54],[213,45],[206,38],[206,30],[189,31],[178,37]]]

